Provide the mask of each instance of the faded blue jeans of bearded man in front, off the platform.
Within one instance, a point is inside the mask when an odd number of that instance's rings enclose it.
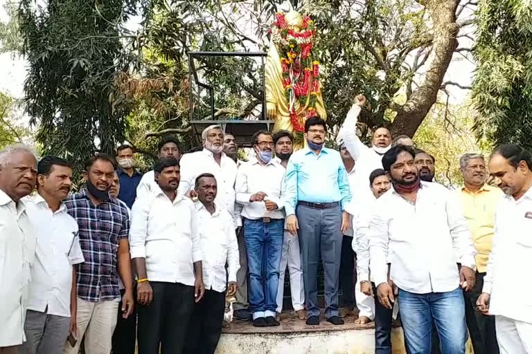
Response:
[[[461,288],[428,294],[399,289],[398,303],[409,353],[430,353],[432,322],[436,324],[442,354],[465,353],[468,329]]]

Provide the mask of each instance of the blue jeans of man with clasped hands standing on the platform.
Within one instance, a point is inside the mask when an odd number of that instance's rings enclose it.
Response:
[[[275,316],[284,225],[284,219],[264,223],[244,218],[249,308],[254,319]]]

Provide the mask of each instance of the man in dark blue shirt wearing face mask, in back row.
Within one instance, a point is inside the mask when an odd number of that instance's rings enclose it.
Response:
[[[142,174],[135,170],[133,148],[130,145],[121,145],[116,149],[116,162],[120,166],[116,170],[120,179],[120,193],[118,199],[123,201],[130,209],[136,198],[136,187],[141,183]]]

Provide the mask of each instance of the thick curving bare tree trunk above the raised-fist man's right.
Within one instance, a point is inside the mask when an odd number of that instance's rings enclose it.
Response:
[[[436,102],[438,90],[449,67],[454,50],[458,46],[456,35],[460,30],[456,24],[456,8],[459,0],[425,0],[419,1],[427,8],[434,24],[434,41],[432,58],[422,84],[410,99],[397,111],[391,124],[393,136],[405,134],[414,136],[423,119]]]

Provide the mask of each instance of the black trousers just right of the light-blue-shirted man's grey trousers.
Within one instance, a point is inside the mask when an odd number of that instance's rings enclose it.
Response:
[[[355,288],[356,272],[355,270],[355,252],[353,251],[353,237],[344,235],[342,239],[342,253],[340,258],[340,288],[342,288],[342,299],[344,307],[355,308]],[[354,274],[354,277],[353,277]]]

